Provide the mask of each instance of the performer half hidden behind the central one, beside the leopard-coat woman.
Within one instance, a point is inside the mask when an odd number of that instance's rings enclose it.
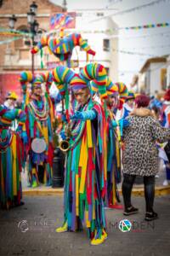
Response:
[[[98,94],[98,86],[91,82],[92,90]],[[116,109],[119,107],[119,93],[125,91],[127,87],[123,84],[113,84],[111,79],[107,79],[105,100],[106,108],[106,140],[107,140],[107,200],[106,206],[110,208],[122,209],[117,184],[121,182],[121,130],[122,125],[127,126],[127,120],[120,119],[116,121]],[[126,92],[127,93],[127,92]],[[121,93],[120,93],[121,96]]]

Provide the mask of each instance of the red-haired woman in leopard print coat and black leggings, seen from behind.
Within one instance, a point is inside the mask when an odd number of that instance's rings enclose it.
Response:
[[[158,172],[158,149],[156,142],[164,143],[170,139],[170,129],[163,128],[147,109],[148,96],[140,95],[135,99],[135,110],[127,120],[130,125],[123,130],[123,183],[122,195],[124,215],[138,212],[131,204],[131,191],[135,177],[144,177],[144,197],[146,203],[145,220],[157,218],[153,210],[155,196],[155,175]]]

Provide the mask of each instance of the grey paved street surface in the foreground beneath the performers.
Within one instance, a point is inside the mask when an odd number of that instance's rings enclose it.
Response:
[[[131,217],[122,210],[106,209],[108,238],[91,246],[87,231],[56,233],[62,224],[63,195],[25,196],[25,205],[10,211],[0,210],[0,255],[28,256],[169,256],[170,195],[156,197],[159,219],[144,221],[144,197],[134,197],[139,213]],[[119,230],[119,222],[128,219],[131,230]]]

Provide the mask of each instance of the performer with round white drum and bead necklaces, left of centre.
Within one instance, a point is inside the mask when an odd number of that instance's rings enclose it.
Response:
[[[48,95],[52,83],[50,74],[23,72],[20,74],[26,109],[26,155],[29,155],[28,177],[32,187],[41,183],[51,185],[53,165],[53,121],[54,108]],[[31,93],[28,91],[31,83]],[[42,96],[42,84],[46,93]]]

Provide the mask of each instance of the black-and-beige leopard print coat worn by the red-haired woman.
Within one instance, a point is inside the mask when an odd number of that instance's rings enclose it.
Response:
[[[163,128],[151,116],[128,116],[130,125],[123,129],[123,173],[152,176],[158,172],[156,142],[170,139],[170,129]]]

